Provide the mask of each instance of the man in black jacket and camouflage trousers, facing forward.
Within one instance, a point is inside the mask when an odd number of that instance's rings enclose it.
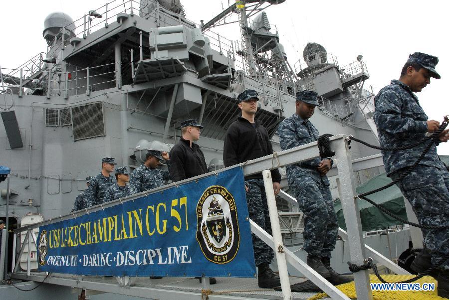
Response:
[[[245,90],[237,97],[241,117],[234,121],[226,132],[223,160],[225,166],[231,166],[247,160],[273,153],[266,129],[254,119],[259,98],[254,90]],[[279,192],[280,174],[278,169],[271,170],[274,193]],[[262,229],[271,233],[271,223],[266,202],[262,173],[245,177],[246,202],[249,217]],[[258,268],[260,288],[274,288],[280,285],[279,276],[270,269],[274,257],[273,250],[252,234],[255,264]]]

